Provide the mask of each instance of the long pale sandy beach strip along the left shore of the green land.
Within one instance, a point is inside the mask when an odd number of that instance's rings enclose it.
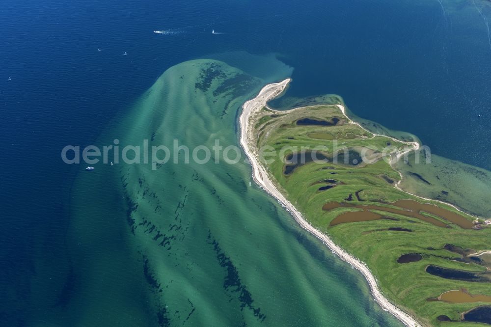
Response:
[[[327,235],[321,233],[314,227],[312,227],[295,209],[295,207],[288,201],[281,192],[279,192],[270,179],[266,169],[259,162],[258,155],[255,151],[255,145],[253,139],[251,139],[252,132],[254,130],[253,125],[250,124],[253,115],[266,106],[266,103],[281,94],[291,79],[286,79],[279,83],[268,84],[264,86],[259,94],[252,100],[247,101],[243,105],[243,111],[239,118],[241,127],[241,145],[246,153],[252,165],[252,178],[262,189],[272,195],[278,202],[286,208],[287,211],[292,214],[295,220],[301,227],[309,231],[312,235],[321,240],[327,247],[339,256],[342,260],[351,264],[355,269],[360,271],[366,278],[370,285],[370,290],[374,299],[379,303],[383,310],[390,312],[397,319],[399,319],[406,326],[421,326],[416,319],[411,317],[406,312],[402,311],[385,297],[380,292],[378,281],[375,276],[370,272],[367,265],[360,260],[356,259],[348,252],[344,251],[340,246],[336,245]]]

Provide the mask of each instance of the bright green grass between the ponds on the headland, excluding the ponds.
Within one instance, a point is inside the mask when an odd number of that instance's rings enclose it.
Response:
[[[308,125],[298,126],[296,121],[300,118],[313,118],[329,121],[332,117],[340,119],[336,126]],[[281,160],[292,152],[300,151],[301,146],[312,149],[315,146],[327,146],[326,153],[331,153],[334,145],[337,148],[345,147],[376,147],[383,149],[388,144],[393,151],[402,149],[406,144],[397,142],[385,136],[374,136],[356,124],[349,123],[342,112],[336,106],[316,106],[294,109],[285,112],[276,112],[263,109],[254,117],[256,146],[273,147],[277,151],[275,160],[266,164],[267,170],[274,177],[278,189],[292,202],[315,228],[327,234],[338,245],[367,263],[372,273],[379,281],[382,293],[396,305],[416,316],[419,321],[430,326],[465,325],[471,323],[445,323],[437,321],[439,315],[446,315],[452,320],[459,320],[461,313],[476,306],[491,303],[446,303],[442,301],[427,301],[428,298],[436,298],[448,290],[467,289],[471,294],[491,295],[491,283],[468,282],[445,279],[425,272],[429,264],[445,268],[459,270],[485,272],[486,268],[474,263],[462,263],[442,257],[456,258],[458,254],[442,249],[445,244],[453,244],[463,248],[479,250],[491,250],[491,229],[481,230],[463,229],[455,224],[438,227],[431,223],[397,214],[384,216],[399,220],[372,220],[362,222],[341,223],[330,226],[329,222],[339,214],[346,211],[356,211],[354,208],[337,208],[324,211],[324,204],[332,201],[349,202],[350,204],[373,204],[378,206],[390,206],[386,202],[399,199],[415,199],[419,202],[428,202],[396,189],[381,175],[386,175],[394,181],[400,179],[400,175],[391,165],[384,160],[378,160],[373,164],[359,164],[356,166],[346,164],[307,163],[297,167],[291,174],[283,173],[284,162]],[[307,135],[311,133],[329,133],[338,136],[337,139],[313,139]],[[339,134],[341,133],[341,134]],[[356,137],[346,138],[349,133]],[[336,144],[335,144],[336,143]],[[282,158],[279,158],[281,149]],[[298,150],[297,148],[298,147]],[[376,151],[378,153],[378,151]],[[324,168],[324,169],[323,169]],[[335,187],[326,191],[318,191],[320,186],[327,183],[319,181],[334,179]],[[363,190],[363,191],[360,191]],[[358,202],[355,192],[359,192],[360,198],[366,200]],[[352,201],[346,201],[349,194],[353,195]],[[383,203],[381,203],[381,201]],[[453,207],[433,201],[449,211],[458,212]],[[471,216],[462,214],[465,218],[473,220]],[[428,215],[430,216],[430,215]],[[439,220],[441,218],[432,216]],[[448,221],[445,221],[448,223]],[[413,232],[401,231],[374,231],[389,227],[404,227]],[[372,232],[371,232],[372,231]],[[428,250],[427,248],[437,250]],[[422,260],[406,264],[397,263],[397,258],[406,253],[427,254]],[[475,324],[474,324],[475,325]]]

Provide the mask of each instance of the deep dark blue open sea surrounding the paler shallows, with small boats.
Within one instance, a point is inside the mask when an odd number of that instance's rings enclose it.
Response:
[[[3,0],[0,325],[29,320],[36,263],[48,253],[56,272],[67,256],[80,167],[61,149],[92,144],[169,67],[227,57],[247,70],[245,53],[273,54],[294,68],[287,96],[339,94],[360,117],[491,169],[490,18],[485,0]]]

